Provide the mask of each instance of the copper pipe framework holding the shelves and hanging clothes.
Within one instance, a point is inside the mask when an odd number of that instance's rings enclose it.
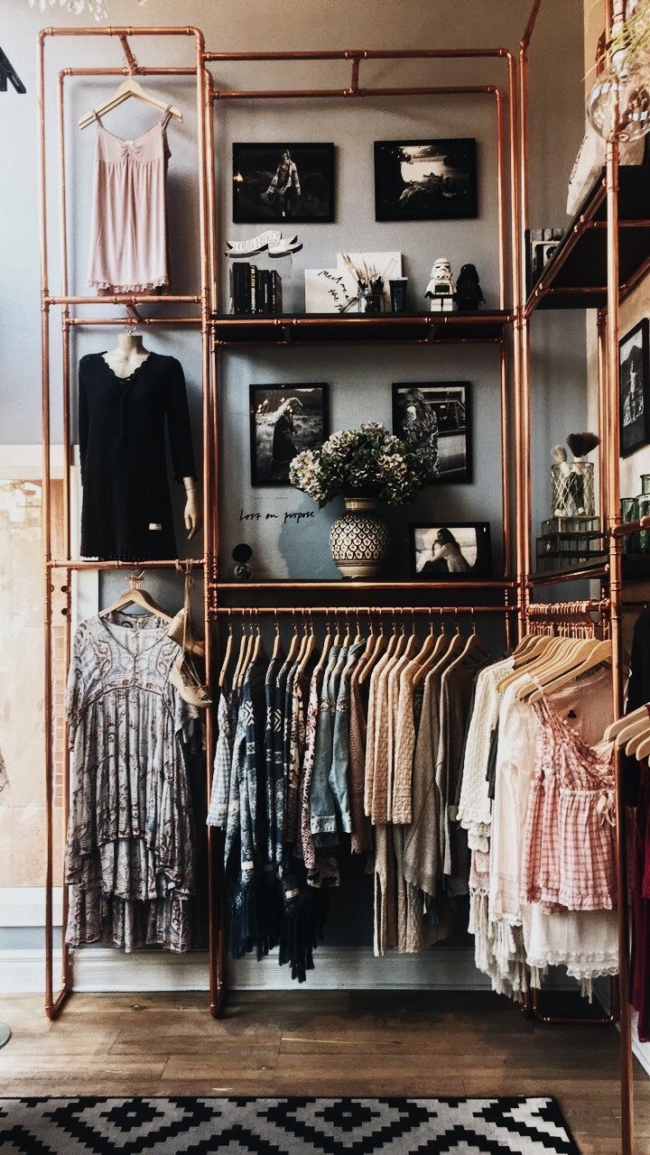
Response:
[[[260,341],[272,344],[287,344],[294,340],[294,335],[301,333],[301,344],[310,342],[326,343],[331,340],[331,333],[345,333],[346,340],[355,342],[371,341],[372,345],[378,341],[393,343],[396,341],[411,342],[416,344],[435,345],[437,343],[458,344],[475,343],[481,341],[492,344],[498,352],[501,374],[501,459],[502,459],[502,511],[503,511],[503,579],[501,583],[502,601],[497,602],[498,590],[495,594],[494,605],[477,606],[437,606],[435,583],[420,582],[386,582],[385,588],[408,588],[420,589],[422,599],[428,604],[411,608],[370,608],[370,606],[337,606],[338,613],[365,613],[365,614],[392,614],[400,612],[415,614],[503,614],[504,625],[509,629],[511,619],[516,616],[519,633],[523,634],[529,626],[537,623],[548,621],[552,617],[549,612],[546,617],[540,611],[540,603],[532,604],[531,590],[533,586],[544,587],[551,584],[557,578],[545,578],[534,575],[531,566],[531,364],[530,364],[530,323],[544,295],[534,295],[532,300],[526,300],[524,284],[524,261],[523,261],[523,237],[529,223],[527,211],[527,187],[529,187],[529,141],[527,141],[527,59],[531,40],[535,29],[537,20],[542,8],[544,0],[533,0],[529,21],[519,44],[518,57],[507,47],[494,49],[435,49],[435,50],[340,50],[340,51],[316,51],[316,52],[208,52],[201,31],[197,28],[47,28],[39,36],[39,62],[38,62],[38,106],[39,106],[39,166],[40,166],[40,335],[43,351],[42,368],[42,411],[43,411],[43,448],[44,448],[44,471],[43,471],[43,507],[44,507],[44,572],[45,572],[45,791],[46,791],[46,1013],[51,1019],[56,1019],[64,1005],[65,999],[72,991],[71,960],[67,948],[62,947],[62,973],[61,986],[56,993],[53,989],[53,751],[52,742],[54,733],[54,700],[52,694],[52,635],[53,625],[53,582],[62,580],[60,591],[65,596],[64,617],[66,624],[65,661],[69,660],[71,641],[71,579],[75,572],[86,569],[119,571],[133,568],[135,564],[128,562],[91,562],[83,559],[75,559],[71,556],[71,444],[72,426],[69,412],[69,387],[71,387],[71,333],[76,328],[86,326],[119,326],[124,321],[119,316],[106,315],[106,305],[120,306],[133,316],[133,310],[138,311],[139,323],[145,326],[170,326],[170,327],[200,327],[201,350],[202,350],[202,434],[204,434],[204,501],[205,501],[205,538],[202,561],[197,565],[205,566],[204,581],[204,625],[206,632],[206,666],[208,686],[214,684],[216,666],[216,638],[214,636],[217,621],[223,621],[228,614],[230,618],[250,617],[251,613],[258,616],[272,614],[297,614],[303,608],[298,606],[275,606],[239,609],[224,605],[231,593],[243,591],[244,583],[235,587],[232,582],[222,580],[220,571],[220,419],[219,397],[221,388],[220,359],[231,350],[234,353],[242,348],[257,345]],[[612,24],[613,0],[604,0],[607,12],[607,27]],[[191,66],[165,66],[154,67],[141,66],[133,53],[131,39],[135,36],[154,37],[156,43],[161,38],[171,36],[175,38],[186,37],[193,43],[194,60]],[[50,98],[50,84],[46,84],[46,60],[45,47],[52,37],[87,37],[93,42],[95,37],[112,39],[121,51],[123,62],[113,67],[67,67],[58,74],[58,102],[57,121],[59,134],[59,166],[58,166],[58,217],[59,217],[59,246],[60,246],[60,291],[53,295],[49,285],[49,191],[47,191],[47,156],[46,139],[51,136],[47,131]],[[95,43],[97,43],[95,40]],[[99,42],[101,43],[101,42]],[[422,85],[414,87],[402,84],[401,87],[363,87],[360,83],[360,72],[367,61],[383,61],[384,65],[392,64],[394,68],[400,68],[406,61],[426,60],[431,66],[436,61],[461,60],[467,66],[472,62],[493,60],[495,65],[503,65],[505,68],[505,82],[503,87],[497,84],[465,84],[465,85]],[[267,65],[279,64],[280,66],[290,61],[322,61],[330,62],[332,67],[345,65],[349,68],[349,81],[342,87],[324,87],[320,89],[238,89],[230,90],[224,87],[215,87],[210,64],[224,65],[228,62],[265,62]],[[200,238],[200,292],[194,296],[175,297],[162,295],[160,297],[147,296],[120,296],[103,298],[89,298],[87,296],[74,296],[68,286],[68,239],[67,239],[67,182],[66,182],[66,135],[65,135],[65,89],[68,80],[82,80],[83,77],[97,79],[109,76],[185,76],[195,82],[197,125],[198,125],[198,231]],[[496,202],[497,202],[497,260],[498,260],[498,310],[485,310],[478,322],[468,321],[461,314],[451,314],[445,318],[404,318],[385,316],[376,318],[245,318],[234,319],[219,314],[219,280],[220,261],[217,260],[216,246],[216,204],[214,187],[214,112],[219,112],[220,105],[224,102],[256,102],[273,99],[345,99],[348,105],[352,100],[363,99],[368,106],[368,98],[371,97],[431,97],[453,95],[457,98],[487,98],[494,106],[495,113],[495,149],[496,149]],[[600,453],[600,499],[604,526],[608,531],[608,565],[598,571],[597,576],[603,584],[608,587],[610,606],[607,618],[610,620],[613,668],[614,668],[614,696],[615,710],[621,709],[622,676],[621,676],[621,632],[620,618],[622,613],[622,576],[621,576],[621,535],[634,531],[637,528],[650,528],[649,523],[636,527],[620,526],[619,511],[619,417],[618,417],[618,340],[619,340],[619,206],[618,206],[618,174],[619,174],[619,143],[614,139],[607,148],[607,170],[605,180],[604,199],[607,210],[607,307],[599,313],[599,424],[601,431]],[[507,195],[508,191],[508,195]],[[584,229],[589,222],[584,224]],[[583,225],[577,228],[577,234],[584,231]],[[570,238],[575,244],[575,238]],[[508,276],[510,270],[510,276]],[[551,292],[553,286],[546,276],[546,291]],[[507,307],[507,300],[511,291],[512,305]],[[142,315],[142,306],[156,305],[158,310],[167,310],[168,305],[194,306],[187,307],[186,315],[173,316],[160,313],[155,316]],[[83,305],[93,308],[94,315],[77,316],[74,311]],[[97,306],[104,313],[95,312]],[[60,310],[61,326],[61,370],[62,370],[62,440],[64,440],[64,557],[54,559],[52,557],[52,492],[51,492],[51,381],[50,381],[50,319],[51,311]],[[269,323],[272,322],[272,323]],[[339,328],[335,329],[335,326]],[[341,329],[341,326],[344,329]],[[337,340],[337,337],[334,337]],[[338,338],[340,340],[340,337]],[[213,356],[214,355],[214,356]],[[512,374],[512,377],[511,377]],[[511,417],[512,415],[512,417]],[[511,455],[511,445],[514,454]],[[514,460],[511,460],[514,457]],[[175,562],[167,560],[143,562],[139,568],[145,569],[168,569]],[[594,571],[585,567],[576,568],[573,574],[562,575],[561,580],[584,580],[593,576]],[[315,593],[319,589],[331,589],[341,583],[310,582],[309,589]],[[363,589],[377,589],[382,583],[361,583],[357,587],[360,593]],[[490,581],[467,583],[466,589],[495,589]],[[252,583],[252,589],[280,588],[283,583]],[[441,590],[449,588],[449,584],[440,583]],[[341,591],[345,589],[341,586]],[[458,583],[458,590],[463,584]],[[308,583],[296,582],[295,586],[287,583],[283,589],[290,594],[293,589],[302,589],[308,593]],[[515,595],[515,604],[509,601],[510,590]],[[604,620],[605,608],[598,603]],[[309,614],[327,613],[326,608],[310,606]],[[555,610],[557,612],[557,610]],[[574,613],[560,611],[560,620],[571,624],[583,619],[585,614],[590,617],[597,612],[594,605],[590,609],[582,609]],[[213,633],[214,632],[214,633]],[[206,775],[210,780],[212,754],[214,745],[212,720],[207,718],[207,751],[206,751]],[[68,807],[68,782],[65,775],[64,787],[64,820]],[[627,915],[627,849],[626,849],[626,824],[625,805],[621,790],[621,776],[616,768],[616,840],[618,840],[618,892],[619,892],[619,955],[620,955],[620,983],[621,990],[627,991],[627,967],[629,948],[629,927]],[[222,847],[219,832],[208,830],[208,918],[209,918],[209,1006],[210,1012],[220,1013],[223,998],[227,992],[227,968],[226,968],[226,939],[223,933],[223,887],[221,878]],[[66,887],[64,885],[64,921],[67,908]],[[622,1106],[622,1155],[633,1155],[633,1104],[631,1104],[631,1049],[630,1049],[630,1013],[627,998],[621,1000],[620,1013],[621,1029],[621,1106]]]

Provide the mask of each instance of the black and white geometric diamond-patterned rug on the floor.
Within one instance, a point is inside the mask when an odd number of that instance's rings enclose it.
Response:
[[[553,1098],[0,1098],[2,1155],[579,1155]]]

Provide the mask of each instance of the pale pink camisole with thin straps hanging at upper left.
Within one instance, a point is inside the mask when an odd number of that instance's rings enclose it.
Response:
[[[165,178],[170,111],[135,140],[97,120],[88,281],[99,293],[152,292],[169,283]]]

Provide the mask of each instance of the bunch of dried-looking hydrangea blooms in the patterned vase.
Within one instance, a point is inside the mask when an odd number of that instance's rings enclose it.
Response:
[[[368,422],[357,430],[339,430],[320,449],[298,453],[289,465],[291,485],[319,506],[339,493],[406,505],[429,479],[424,461],[379,422]]]

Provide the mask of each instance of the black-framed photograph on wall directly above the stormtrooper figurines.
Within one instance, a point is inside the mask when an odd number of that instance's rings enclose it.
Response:
[[[478,216],[477,141],[375,141],[377,221],[466,221]]]

